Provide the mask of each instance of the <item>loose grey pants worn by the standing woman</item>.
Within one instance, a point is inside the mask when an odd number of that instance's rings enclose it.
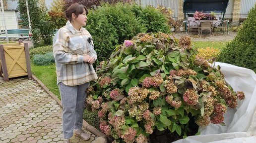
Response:
[[[69,139],[73,136],[74,129],[82,128],[85,91],[89,82],[77,86],[67,86],[60,82],[58,86],[63,105],[63,135],[64,139]]]

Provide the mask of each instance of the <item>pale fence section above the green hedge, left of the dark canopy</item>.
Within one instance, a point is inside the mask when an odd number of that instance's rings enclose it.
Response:
[[[135,2],[141,6],[152,5],[157,7],[158,5],[162,5],[164,7],[169,7],[173,10],[173,18],[178,18],[178,11],[179,11],[179,0],[135,0]]]

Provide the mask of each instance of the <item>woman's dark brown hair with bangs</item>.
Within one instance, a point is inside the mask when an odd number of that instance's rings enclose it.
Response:
[[[74,3],[74,4],[70,5],[65,10],[65,16],[71,22],[71,20],[72,20],[72,13],[74,13],[75,16],[77,17],[79,14],[83,13],[83,9],[85,9],[85,12],[86,12],[86,15],[87,15],[88,14],[88,9],[87,9],[86,6],[78,4],[78,3]]]

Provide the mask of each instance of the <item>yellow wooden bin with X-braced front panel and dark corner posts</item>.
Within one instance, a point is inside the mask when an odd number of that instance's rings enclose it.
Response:
[[[20,40],[18,43],[0,45],[0,75],[4,81],[12,77],[32,76],[28,43]]]

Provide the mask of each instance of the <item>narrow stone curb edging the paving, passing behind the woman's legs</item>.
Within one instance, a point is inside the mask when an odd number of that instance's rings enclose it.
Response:
[[[35,79],[36,82],[40,84],[40,86],[63,108],[62,102],[44,85],[42,81],[40,81],[34,74],[32,74],[32,78]],[[100,132],[90,124],[88,124],[84,119],[83,119],[83,127],[98,137],[106,136],[105,134],[103,134],[102,132]]]

